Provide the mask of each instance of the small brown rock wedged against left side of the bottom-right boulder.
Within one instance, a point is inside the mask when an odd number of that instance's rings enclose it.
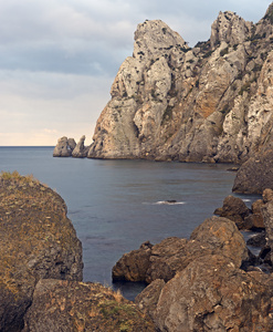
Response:
[[[153,319],[153,321],[155,321],[154,314],[159,295],[165,284],[166,283],[162,279],[156,279],[149,286],[147,286],[135,299],[135,303],[140,308],[140,310],[147,313]]]

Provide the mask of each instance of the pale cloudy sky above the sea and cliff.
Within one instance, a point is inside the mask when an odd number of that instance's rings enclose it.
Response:
[[[0,146],[92,143],[134,32],[160,19],[190,46],[219,11],[256,23],[267,0],[0,0]]]

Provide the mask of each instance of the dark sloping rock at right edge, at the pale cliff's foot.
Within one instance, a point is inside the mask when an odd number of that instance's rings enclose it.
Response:
[[[261,152],[238,170],[232,190],[242,194],[262,194],[273,189],[273,149]]]

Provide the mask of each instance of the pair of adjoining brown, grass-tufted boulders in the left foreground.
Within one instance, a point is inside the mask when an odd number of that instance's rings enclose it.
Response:
[[[64,200],[31,176],[0,176],[0,331],[155,331],[120,293],[82,282]]]

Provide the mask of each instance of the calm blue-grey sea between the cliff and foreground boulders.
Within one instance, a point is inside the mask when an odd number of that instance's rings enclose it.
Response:
[[[0,147],[0,170],[33,175],[59,193],[83,245],[84,281],[134,300],[145,284],[112,282],[112,268],[145,241],[189,238],[232,194],[233,165],[54,158],[54,147]],[[235,195],[238,196],[238,195]],[[251,206],[256,196],[242,196]]]

